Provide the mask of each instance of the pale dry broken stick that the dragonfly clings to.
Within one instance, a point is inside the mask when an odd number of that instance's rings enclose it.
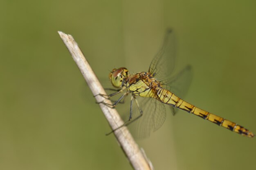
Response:
[[[58,31],[61,39],[63,40],[64,44],[66,45],[67,49],[70,51],[72,58],[76,62],[76,65],[79,67],[85,81],[87,82],[88,86],[92,90],[92,94],[95,96],[97,94],[106,94],[105,90],[99,83],[98,78],[92,71],[89,63],[85,59],[82,51],[78,47],[77,43],[75,42],[74,38],[71,35],[67,35],[61,31]],[[105,98],[102,96],[96,96],[96,101],[101,102]],[[110,100],[106,100],[106,103],[110,103]],[[107,107],[102,103],[99,104],[103,114],[106,116],[108,123],[110,124],[112,129],[116,129],[120,125],[124,124],[121,120],[119,114],[115,109]],[[128,131],[126,127],[120,128],[114,132],[115,137],[118,143],[121,145],[126,157],[130,161],[130,164],[135,170],[152,170],[153,166],[152,163],[147,159],[144,152],[139,150],[139,146],[135,143],[132,135]]]

